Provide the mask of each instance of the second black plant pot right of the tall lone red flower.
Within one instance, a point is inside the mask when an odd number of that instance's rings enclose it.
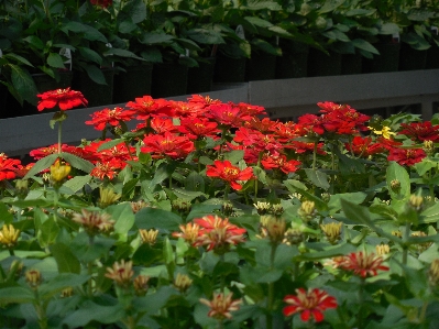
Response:
[[[129,66],[127,72],[114,75],[113,102],[134,100],[136,97],[151,95],[152,64]]]

